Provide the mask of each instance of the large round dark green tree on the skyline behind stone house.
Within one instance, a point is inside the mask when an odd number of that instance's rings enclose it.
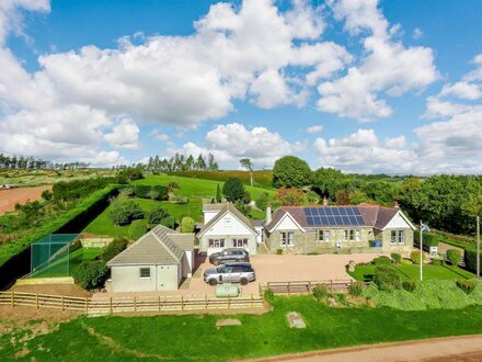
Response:
[[[273,186],[302,188],[311,184],[312,172],[302,159],[285,156],[275,162],[273,168]]]

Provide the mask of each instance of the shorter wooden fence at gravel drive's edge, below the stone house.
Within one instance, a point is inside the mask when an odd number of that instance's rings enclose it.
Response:
[[[299,282],[267,282],[260,284],[260,294],[271,290],[274,294],[306,294],[312,293],[318,284],[324,284],[331,292],[346,292],[352,280],[323,280],[323,281],[299,281]]]

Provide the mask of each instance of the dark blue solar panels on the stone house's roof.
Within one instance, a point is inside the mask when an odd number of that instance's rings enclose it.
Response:
[[[308,226],[364,226],[357,207],[305,207]]]

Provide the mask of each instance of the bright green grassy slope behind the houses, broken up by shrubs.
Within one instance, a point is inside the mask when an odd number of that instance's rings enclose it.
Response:
[[[217,185],[219,183],[222,188],[222,182],[211,180],[190,179],[175,176],[148,176],[142,180],[133,182],[133,184],[146,184],[146,185],[167,185],[170,182],[176,182],[179,184],[179,194],[188,199],[187,204],[174,204],[169,201],[153,201],[145,199],[133,199],[139,203],[142,211],[148,211],[154,206],[164,208],[170,215],[174,216],[176,222],[180,223],[184,216],[191,216],[196,222],[203,220],[203,199],[210,199],[216,195]],[[266,190],[261,188],[245,186],[251,193],[251,197],[256,200],[263,192],[267,192],[273,195],[273,190]],[[129,225],[118,226],[112,223],[108,217],[111,206],[107,206],[91,224],[89,224],[83,233],[94,235],[105,235],[114,237],[127,237]],[[264,212],[252,211],[251,216],[253,218],[264,218]]]

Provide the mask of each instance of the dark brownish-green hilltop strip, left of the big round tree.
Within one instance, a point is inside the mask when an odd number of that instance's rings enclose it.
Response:
[[[228,178],[239,178],[244,184],[251,184],[250,172],[248,171],[184,171],[171,172],[170,174],[214,181],[226,181]],[[272,189],[272,171],[253,171],[253,185],[255,186]]]

